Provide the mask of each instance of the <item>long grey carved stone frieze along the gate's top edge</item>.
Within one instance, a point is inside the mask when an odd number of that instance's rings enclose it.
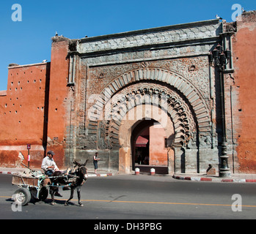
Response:
[[[122,50],[147,45],[186,42],[195,39],[214,38],[222,31],[219,20],[188,23],[182,26],[166,26],[156,29],[145,29],[109,36],[81,39],[79,53],[95,53],[107,50]]]

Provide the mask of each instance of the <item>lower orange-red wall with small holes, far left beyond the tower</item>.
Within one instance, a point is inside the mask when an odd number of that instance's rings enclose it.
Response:
[[[45,83],[49,67],[50,64],[9,67],[6,96],[0,96],[1,166],[26,162],[28,143],[32,144],[34,166],[40,166],[44,153]],[[19,157],[20,153],[25,160]]]

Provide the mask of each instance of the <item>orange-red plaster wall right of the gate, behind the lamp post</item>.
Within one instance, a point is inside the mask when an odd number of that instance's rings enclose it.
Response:
[[[233,37],[235,86],[239,88],[235,112],[240,110],[240,122],[235,123],[238,136],[239,171],[256,173],[256,12],[238,20]]]

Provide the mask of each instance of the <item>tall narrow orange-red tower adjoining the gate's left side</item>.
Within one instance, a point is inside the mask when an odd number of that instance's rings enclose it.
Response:
[[[65,164],[65,129],[67,116],[67,79],[69,41],[53,42],[51,47],[51,80],[48,113],[48,150],[55,153],[54,160],[59,168]]]

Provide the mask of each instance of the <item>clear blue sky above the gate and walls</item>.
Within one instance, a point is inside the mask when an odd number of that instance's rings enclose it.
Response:
[[[12,21],[13,4],[22,21]],[[1,0],[0,90],[7,89],[8,64],[51,61],[55,31],[70,39],[211,20],[216,14],[232,21],[233,4],[256,10],[255,0]]]

